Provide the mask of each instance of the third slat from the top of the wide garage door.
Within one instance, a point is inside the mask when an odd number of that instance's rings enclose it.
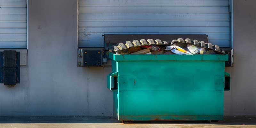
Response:
[[[81,12],[81,11],[80,11]],[[79,20],[229,20],[228,13],[79,13]]]

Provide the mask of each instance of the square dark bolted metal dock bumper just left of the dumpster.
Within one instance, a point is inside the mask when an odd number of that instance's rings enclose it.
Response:
[[[78,67],[103,66],[104,49],[78,49]]]

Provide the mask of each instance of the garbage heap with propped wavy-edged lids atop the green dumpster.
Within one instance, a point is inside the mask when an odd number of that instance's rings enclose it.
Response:
[[[198,42],[191,39],[172,40],[171,43],[161,41],[159,39],[153,40],[145,39],[126,41],[126,43],[118,43],[116,46],[111,46],[109,52],[116,54],[225,54],[225,51],[220,49],[218,45],[205,43],[204,41]]]

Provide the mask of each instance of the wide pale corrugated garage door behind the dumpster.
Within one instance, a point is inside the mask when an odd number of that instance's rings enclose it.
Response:
[[[229,0],[80,0],[79,47],[103,34],[207,34],[230,47]]]

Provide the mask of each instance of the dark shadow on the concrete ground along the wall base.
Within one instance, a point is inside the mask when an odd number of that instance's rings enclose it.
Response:
[[[122,123],[110,116],[0,116],[0,124]],[[209,121],[132,121],[132,124],[212,124]],[[256,125],[256,116],[225,116],[220,125]]]

